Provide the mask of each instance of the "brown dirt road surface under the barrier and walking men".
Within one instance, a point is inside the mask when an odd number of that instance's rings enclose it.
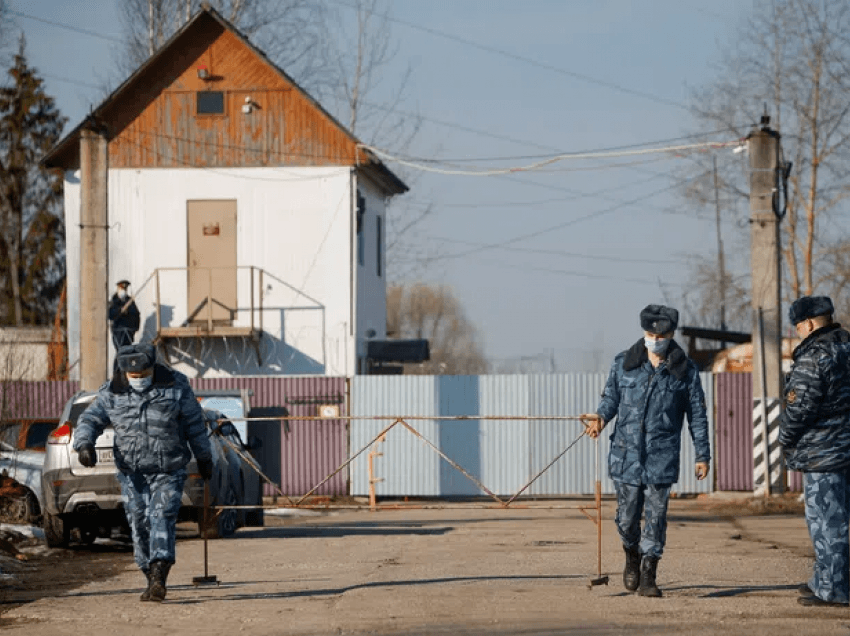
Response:
[[[419,502],[423,503],[423,502]],[[480,504],[481,502],[479,502]],[[486,505],[486,504],[485,504]],[[0,578],[4,634],[850,634],[850,608],[796,602],[811,568],[795,497],[671,501],[664,598],[625,592],[603,504],[602,573],[586,500],[508,510],[427,502],[268,515],[264,528],[203,541],[181,527],[164,603],[140,603],[129,546],[36,550]],[[594,511],[589,511],[594,515]],[[4,567],[5,564],[5,567]],[[0,570],[8,571],[8,561]]]

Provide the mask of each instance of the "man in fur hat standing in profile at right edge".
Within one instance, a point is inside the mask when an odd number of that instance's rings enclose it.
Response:
[[[850,333],[832,320],[832,300],[803,296],[789,318],[803,340],[785,382],[779,443],[791,470],[803,472],[806,524],[815,551],[801,605],[850,600]]]

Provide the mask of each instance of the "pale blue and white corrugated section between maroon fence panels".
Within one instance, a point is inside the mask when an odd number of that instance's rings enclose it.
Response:
[[[713,404],[711,374],[701,376],[706,401]],[[473,420],[416,420],[410,424],[487,488],[511,495],[581,434],[573,420],[488,420],[492,416],[575,416],[596,409],[605,384],[604,374],[488,375],[488,376],[357,376],[351,380],[351,409],[355,416],[482,415]],[[351,451],[368,444],[388,422],[353,420]],[[709,413],[713,435],[713,412]],[[603,492],[613,493],[607,477],[609,429],[600,437],[600,475]],[[688,436],[688,433],[683,433]],[[382,479],[376,493],[384,496],[469,496],[478,487],[443,461],[432,449],[400,426],[393,428],[375,459],[375,476]],[[698,482],[693,475],[694,451],[682,445],[682,471],[674,491],[709,492],[713,475]],[[596,443],[582,438],[529,490],[530,495],[592,494]],[[369,488],[367,455],[351,463],[351,494]]]

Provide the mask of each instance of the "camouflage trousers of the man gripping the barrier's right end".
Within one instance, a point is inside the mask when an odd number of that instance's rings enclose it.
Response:
[[[661,558],[667,541],[667,504],[672,484],[627,484],[614,481],[617,491],[615,523],[623,547],[640,549],[643,556]],[[640,528],[644,517],[643,531]]]

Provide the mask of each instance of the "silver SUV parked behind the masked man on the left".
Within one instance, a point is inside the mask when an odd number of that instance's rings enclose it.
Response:
[[[231,415],[247,412],[247,396],[232,391],[197,391],[201,406],[211,401],[227,409],[204,408],[204,419],[213,448],[213,478],[210,481],[212,506],[251,506],[255,509],[215,511],[217,516],[207,530],[207,537],[229,537],[241,526],[262,526],[262,479],[260,467],[251,450],[260,447],[259,440],[245,444],[237,427],[221,412]],[[73,450],[74,430],[82,412],[94,400],[95,393],[80,392],[72,397],[62,412],[60,425],[47,438],[47,450],[41,476],[44,492],[43,523],[47,544],[67,546],[72,540],[91,543],[98,537],[115,532],[129,535],[121,500],[121,487],[116,477],[113,456],[114,431],[107,427],[97,438],[97,464],[87,468],[80,464]],[[214,398],[214,399],[213,399]],[[203,479],[195,459],[187,464],[188,478],[183,489],[179,521],[193,521],[203,532]]]

